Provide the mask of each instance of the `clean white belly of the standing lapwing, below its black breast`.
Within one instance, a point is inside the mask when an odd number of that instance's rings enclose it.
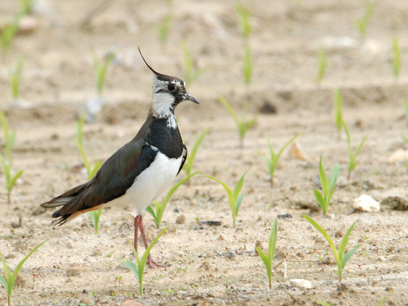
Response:
[[[182,157],[169,159],[160,151],[150,166],[143,170],[126,193],[107,203],[107,206],[135,206],[143,214],[150,202],[169,189],[180,169]]]

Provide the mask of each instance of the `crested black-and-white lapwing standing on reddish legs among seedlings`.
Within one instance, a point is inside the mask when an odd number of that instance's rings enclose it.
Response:
[[[186,82],[154,70],[152,102],[147,118],[136,136],[118,149],[98,169],[93,179],[44,202],[43,208],[56,208],[52,214],[56,225],[103,207],[133,205],[134,246],[137,251],[138,230],[147,249],[142,215],[150,202],[166,191],[180,173],[187,158],[174,109],[184,100],[199,104],[186,91]],[[149,267],[160,263],[147,259]]]

